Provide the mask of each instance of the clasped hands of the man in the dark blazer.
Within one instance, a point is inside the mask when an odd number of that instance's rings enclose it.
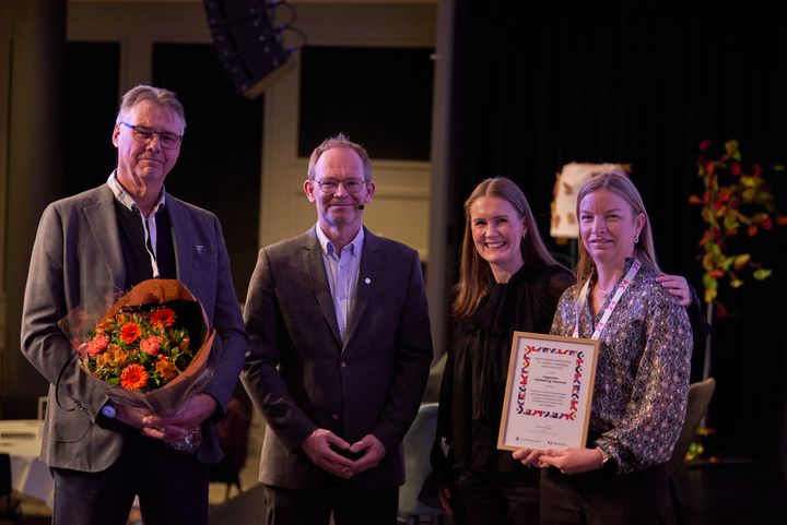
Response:
[[[383,443],[372,434],[350,444],[322,428],[312,432],[301,444],[301,449],[315,465],[344,479],[375,467],[386,454]],[[343,453],[357,457],[352,460],[342,455]]]

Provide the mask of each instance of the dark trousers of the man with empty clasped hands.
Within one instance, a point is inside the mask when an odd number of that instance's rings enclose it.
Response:
[[[396,525],[399,488],[359,490],[334,478],[319,489],[297,490],[266,485],[267,525]],[[148,525],[145,523],[145,525]]]

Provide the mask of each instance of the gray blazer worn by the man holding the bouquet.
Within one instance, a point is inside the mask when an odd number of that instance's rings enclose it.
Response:
[[[96,420],[107,387],[80,368],[77,353],[58,321],[77,307],[103,311],[122,290],[125,269],[114,205],[104,184],[50,204],[38,225],[22,312],[22,351],[49,381],[42,461],[50,467],[98,472],[119,456],[126,432],[120,423]],[[204,392],[226,408],[243,367],[246,334],[230,274],[219,219],[166,195],[175,244],[177,277],[198,297],[216,331]],[[128,429],[126,429],[128,430]],[[221,458],[215,425],[198,460]]]

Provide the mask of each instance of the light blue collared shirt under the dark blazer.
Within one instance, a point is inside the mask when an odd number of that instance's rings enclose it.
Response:
[[[333,299],[333,309],[339,323],[339,336],[344,341],[350,313],[355,302],[355,288],[361,270],[361,252],[363,251],[364,231],[359,229],[348,246],[337,252],[333,243],[328,239],[319,225],[315,225],[315,232],[322,251],[328,284]]]

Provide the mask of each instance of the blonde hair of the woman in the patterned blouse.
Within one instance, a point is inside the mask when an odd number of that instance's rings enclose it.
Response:
[[[583,184],[577,195],[577,207],[576,216],[579,217],[579,204],[583,199],[589,193],[594,193],[599,190],[611,191],[620,195],[632,208],[634,216],[643,214],[645,223],[643,224],[642,231],[639,231],[639,241],[634,244],[634,255],[639,259],[645,267],[650,267],[655,272],[660,272],[658,263],[656,262],[656,247],[653,241],[653,232],[650,228],[650,217],[648,217],[647,211],[645,210],[645,203],[639,195],[634,182],[631,181],[629,176],[622,169],[612,169],[608,172],[598,175]],[[577,283],[584,283],[594,269],[596,263],[594,262],[590,253],[585,248],[585,243],[582,239],[579,244],[579,261],[577,262],[576,275]]]

